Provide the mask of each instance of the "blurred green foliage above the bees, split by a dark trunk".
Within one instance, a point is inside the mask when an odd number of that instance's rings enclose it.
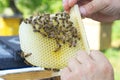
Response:
[[[0,0],[0,13],[10,6],[10,1]],[[14,3],[24,17],[37,13],[55,13],[63,10],[62,0],[14,0]]]

